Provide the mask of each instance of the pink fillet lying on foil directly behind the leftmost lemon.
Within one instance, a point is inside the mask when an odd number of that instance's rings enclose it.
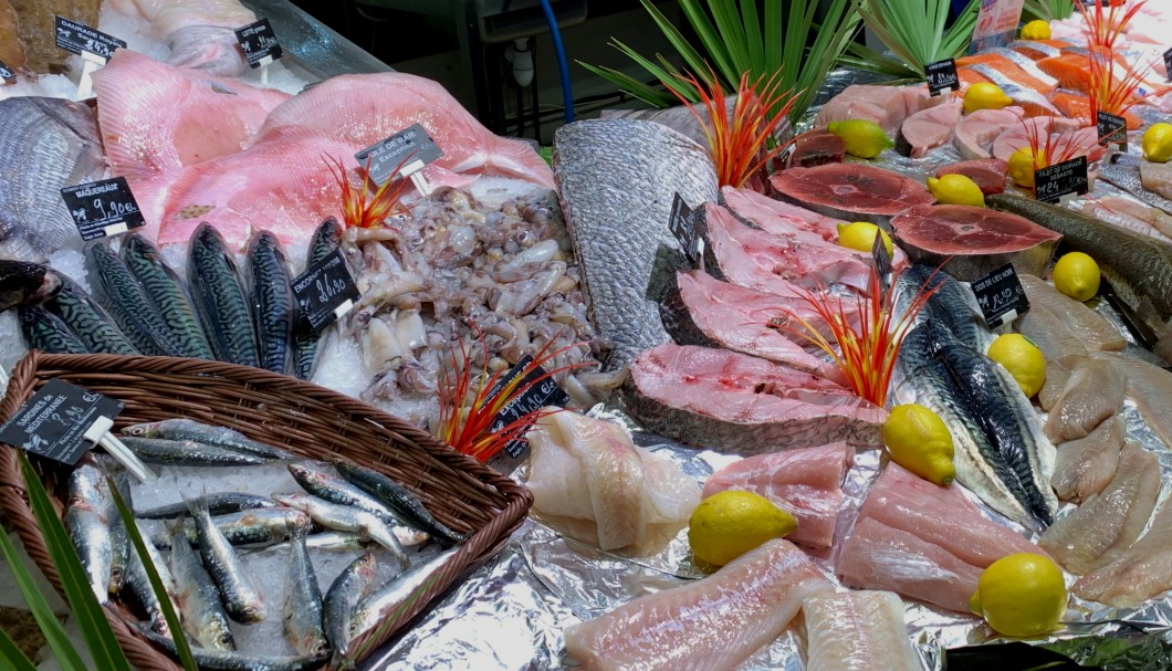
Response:
[[[827,548],[834,541],[843,478],[854,463],[846,443],[748,457],[721,468],[704,482],[704,498],[725,489],[755,492],[798,519],[789,538]]]

